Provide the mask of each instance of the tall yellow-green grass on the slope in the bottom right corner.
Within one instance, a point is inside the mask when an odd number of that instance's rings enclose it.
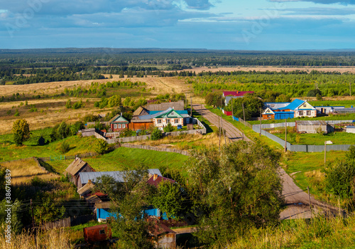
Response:
[[[253,228],[228,248],[354,248],[355,216],[317,216]]]

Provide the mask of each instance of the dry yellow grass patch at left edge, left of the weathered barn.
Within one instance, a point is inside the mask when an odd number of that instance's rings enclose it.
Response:
[[[21,161],[1,162],[1,166],[11,171],[11,184],[23,184],[31,181],[35,176],[40,179],[50,180],[58,178],[57,174],[41,169],[34,159]]]

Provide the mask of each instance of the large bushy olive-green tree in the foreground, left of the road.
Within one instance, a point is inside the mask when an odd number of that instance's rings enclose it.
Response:
[[[192,152],[187,170],[202,242],[226,245],[249,228],[278,222],[283,205],[279,157],[258,142]]]

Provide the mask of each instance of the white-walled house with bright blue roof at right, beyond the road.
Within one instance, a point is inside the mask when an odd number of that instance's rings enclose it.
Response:
[[[305,100],[264,103],[263,120],[284,120],[293,117],[317,117],[317,109]]]

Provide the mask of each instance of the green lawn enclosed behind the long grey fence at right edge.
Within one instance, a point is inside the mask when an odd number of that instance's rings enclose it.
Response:
[[[278,133],[273,133],[273,135],[285,140],[285,130],[278,129],[278,131]],[[296,142],[296,136],[300,137],[299,142]],[[324,135],[288,133],[288,142],[291,144],[324,145],[324,141],[332,141],[333,144],[355,144],[355,134],[346,132],[332,132]]]

